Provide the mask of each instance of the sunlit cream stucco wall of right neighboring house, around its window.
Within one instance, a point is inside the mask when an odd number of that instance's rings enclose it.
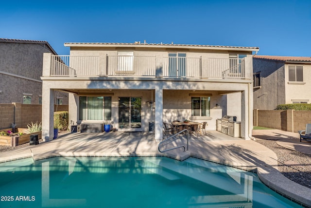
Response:
[[[289,82],[288,68],[291,65],[298,64],[285,64],[285,103],[289,104],[294,101],[306,101],[311,103],[311,64],[299,64],[303,66],[303,82]]]

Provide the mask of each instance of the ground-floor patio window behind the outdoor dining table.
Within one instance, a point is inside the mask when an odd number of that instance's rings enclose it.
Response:
[[[191,97],[191,116],[209,116],[210,97]]]

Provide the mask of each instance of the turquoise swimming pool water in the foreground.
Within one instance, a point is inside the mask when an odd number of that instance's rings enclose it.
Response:
[[[196,158],[53,157],[0,164],[0,207],[290,208],[255,173]]]

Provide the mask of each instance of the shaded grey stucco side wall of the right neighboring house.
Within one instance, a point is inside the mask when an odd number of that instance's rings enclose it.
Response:
[[[274,110],[285,104],[283,62],[254,58],[253,72],[260,72],[260,88],[253,90],[254,109]]]

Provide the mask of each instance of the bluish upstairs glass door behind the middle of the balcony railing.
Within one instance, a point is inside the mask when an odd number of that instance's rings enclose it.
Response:
[[[169,76],[186,76],[186,54],[169,54]]]

